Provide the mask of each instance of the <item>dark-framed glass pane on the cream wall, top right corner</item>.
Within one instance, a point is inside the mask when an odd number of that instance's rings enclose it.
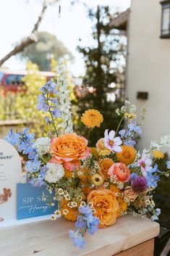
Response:
[[[161,1],[161,38],[170,38],[170,0]]]

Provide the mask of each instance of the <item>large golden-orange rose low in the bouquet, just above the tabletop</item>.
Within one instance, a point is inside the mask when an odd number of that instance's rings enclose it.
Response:
[[[93,203],[94,215],[101,221],[99,228],[114,225],[119,204],[113,191],[93,190],[88,194],[88,202]]]

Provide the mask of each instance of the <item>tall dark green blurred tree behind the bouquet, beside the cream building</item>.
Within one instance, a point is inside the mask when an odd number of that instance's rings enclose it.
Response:
[[[77,107],[80,115],[89,108],[103,114],[101,129],[94,128],[92,131],[91,142],[95,142],[103,137],[106,128],[115,129],[119,123],[115,110],[122,104],[118,87],[124,80],[126,39],[120,37],[119,33],[115,36],[115,30],[110,25],[109,7],[98,7],[96,12],[90,9],[89,17],[93,22],[93,46],[78,47],[85,59],[86,73],[82,79],[82,91],[86,93],[80,97]],[[112,97],[115,92],[119,92],[119,97],[114,101]]]

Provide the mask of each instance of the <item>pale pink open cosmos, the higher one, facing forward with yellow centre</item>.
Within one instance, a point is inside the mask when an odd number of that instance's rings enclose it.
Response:
[[[122,147],[120,146],[122,144],[122,139],[120,137],[115,137],[115,131],[107,129],[104,132],[104,144],[107,149],[110,149],[111,151],[114,152],[122,152]]]

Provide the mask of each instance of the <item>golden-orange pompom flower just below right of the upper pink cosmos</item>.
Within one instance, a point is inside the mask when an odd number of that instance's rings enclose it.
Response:
[[[116,157],[118,158],[119,162],[124,162],[125,165],[130,165],[134,162],[136,157],[136,150],[133,146],[122,146],[122,152],[116,153]]]

